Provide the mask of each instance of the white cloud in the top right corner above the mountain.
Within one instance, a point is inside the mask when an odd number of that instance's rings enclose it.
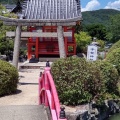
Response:
[[[108,2],[105,9],[120,9],[120,0],[116,0],[114,2]]]

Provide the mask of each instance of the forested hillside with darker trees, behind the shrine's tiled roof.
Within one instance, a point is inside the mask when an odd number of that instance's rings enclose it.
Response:
[[[0,0],[0,3],[11,4],[17,0]],[[23,1],[23,0],[20,0]],[[82,12],[82,25],[76,26],[76,33],[87,32],[92,38],[116,42],[120,39],[120,11],[100,9]]]

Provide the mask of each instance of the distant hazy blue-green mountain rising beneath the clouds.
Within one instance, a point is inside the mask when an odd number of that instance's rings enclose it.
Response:
[[[110,17],[120,14],[120,11],[114,9],[100,9],[95,11],[82,12],[83,24],[103,24],[108,26]]]

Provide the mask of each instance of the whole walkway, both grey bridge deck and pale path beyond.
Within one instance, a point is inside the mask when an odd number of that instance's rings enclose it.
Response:
[[[39,69],[19,72],[17,93],[0,97],[0,120],[48,120],[38,105],[39,73]]]

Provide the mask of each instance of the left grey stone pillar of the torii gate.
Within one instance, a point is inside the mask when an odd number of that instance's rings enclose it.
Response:
[[[15,41],[14,41],[14,52],[13,52],[13,65],[18,68],[18,59],[20,51],[20,38],[21,38],[21,26],[18,25],[16,28]]]

